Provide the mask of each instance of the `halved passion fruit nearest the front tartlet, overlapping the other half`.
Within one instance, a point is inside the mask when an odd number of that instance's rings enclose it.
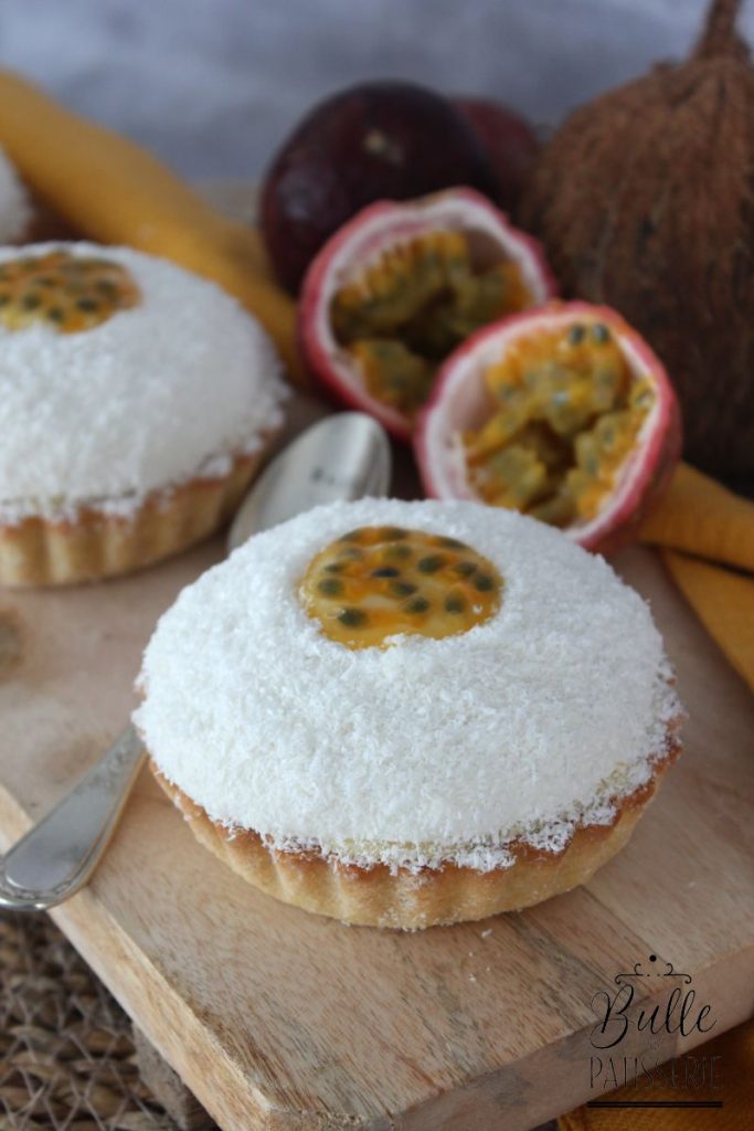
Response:
[[[444,363],[415,435],[424,487],[630,541],[681,455],[665,369],[605,307],[551,303],[476,334]]]

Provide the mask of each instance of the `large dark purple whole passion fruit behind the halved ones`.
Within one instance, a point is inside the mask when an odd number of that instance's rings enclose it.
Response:
[[[363,83],[320,103],[272,159],[261,224],[275,271],[296,292],[333,232],[375,200],[458,184],[496,197],[474,129],[445,97],[411,83]]]

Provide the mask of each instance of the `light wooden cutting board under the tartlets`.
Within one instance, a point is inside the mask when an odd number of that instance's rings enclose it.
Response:
[[[120,731],[156,618],[220,554],[0,592],[0,847]],[[592,1000],[650,953],[693,977],[714,1033],[754,1012],[754,699],[655,554],[617,567],[677,666],[686,752],[629,847],[569,895],[418,934],[346,927],[248,887],[141,776],[93,883],[53,917],[226,1131],[526,1131],[603,1096]],[[644,1031],[617,1052],[655,1063],[701,1039]]]

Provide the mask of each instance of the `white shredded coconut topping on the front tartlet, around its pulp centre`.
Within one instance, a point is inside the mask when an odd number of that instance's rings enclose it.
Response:
[[[398,525],[500,570],[500,612],[441,640],[353,650],[300,601],[319,550]],[[259,534],[185,588],[145,653],[135,715],[209,817],[346,863],[488,871],[560,852],[645,783],[681,708],[648,605],[558,530],[471,502],[333,503]]]

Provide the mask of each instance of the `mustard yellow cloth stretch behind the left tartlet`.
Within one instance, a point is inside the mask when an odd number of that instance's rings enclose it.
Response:
[[[295,304],[267,269],[259,234],[215,211],[139,146],[0,71],[0,145],[53,214],[102,243],[124,243],[214,279],[265,326],[296,383]]]

